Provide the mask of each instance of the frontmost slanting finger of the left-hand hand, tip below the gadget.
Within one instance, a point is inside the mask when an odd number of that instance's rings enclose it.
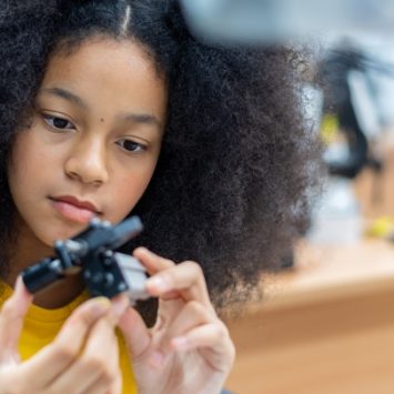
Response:
[[[105,297],[92,299],[79,306],[54,341],[21,364],[26,378],[42,387],[50,384],[78,357],[89,331],[110,309],[111,303]]]

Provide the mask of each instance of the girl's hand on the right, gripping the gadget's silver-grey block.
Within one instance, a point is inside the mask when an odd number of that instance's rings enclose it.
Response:
[[[137,249],[134,256],[152,275],[147,282],[149,294],[159,297],[152,329],[132,307],[120,321],[138,393],[220,393],[235,351],[211,304],[200,265],[175,265],[143,247]]]

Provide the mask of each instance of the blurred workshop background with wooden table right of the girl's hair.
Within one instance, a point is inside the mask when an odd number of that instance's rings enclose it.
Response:
[[[394,393],[394,2],[184,0],[221,43],[313,43],[305,123],[326,180],[264,297],[229,322],[239,394]]]

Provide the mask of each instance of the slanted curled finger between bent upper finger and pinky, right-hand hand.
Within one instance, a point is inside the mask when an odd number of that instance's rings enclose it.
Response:
[[[170,323],[163,334],[160,336],[153,346],[161,351],[172,350],[171,340],[178,336],[183,336],[188,332],[203,324],[213,323],[216,315],[196,301],[190,301],[185,304],[175,320]]]

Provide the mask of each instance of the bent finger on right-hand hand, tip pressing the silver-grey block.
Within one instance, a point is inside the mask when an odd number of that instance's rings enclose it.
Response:
[[[162,297],[178,292],[185,301],[195,300],[212,307],[202,269],[194,262],[160,271],[147,281],[145,286],[151,295]]]

